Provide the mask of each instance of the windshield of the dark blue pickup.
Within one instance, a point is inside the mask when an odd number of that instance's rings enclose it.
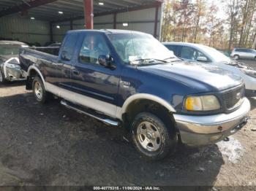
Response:
[[[108,36],[124,63],[148,65],[166,63],[168,59],[176,58],[172,51],[149,34],[127,33]]]

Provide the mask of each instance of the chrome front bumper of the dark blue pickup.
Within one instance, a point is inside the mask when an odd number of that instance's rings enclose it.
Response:
[[[191,146],[200,146],[225,139],[240,130],[249,119],[250,103],[244,98],[235,112],[210,116],[174,114],[181,141]]]

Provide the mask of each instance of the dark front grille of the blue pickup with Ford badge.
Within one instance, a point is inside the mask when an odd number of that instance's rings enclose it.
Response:
[[[240,106],[241,99],[244,98],[244,86],[236,87],[223,93],[223,101],[227,110]]]

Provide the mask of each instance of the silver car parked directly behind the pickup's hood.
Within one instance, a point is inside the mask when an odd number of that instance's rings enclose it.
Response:
[[[165,46],[174,52],[178,58],[186,61],[202,62],[231,71],[244,79],[246,96],[256,96],[256,69],[243,63],[231,60],[218,50],[202,44],[185,42],[164,42]]]

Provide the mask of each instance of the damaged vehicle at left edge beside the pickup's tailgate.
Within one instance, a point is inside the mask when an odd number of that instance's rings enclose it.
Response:
[[[20,47],[28,45],[23,42],[0,41],[0,82],[25,79],[18,58]]]

